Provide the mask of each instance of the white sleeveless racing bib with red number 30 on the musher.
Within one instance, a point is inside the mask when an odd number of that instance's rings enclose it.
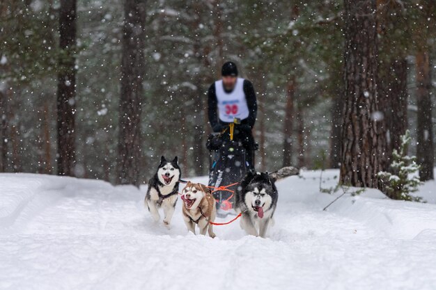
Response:
[[[249,108],[244,93],[244,79],[238,78],[231,92],[224,90],[222,80],[215,81],[215,94],[217,95],[219,120],[233,123],[235,118],[240,120],[248,118]]]

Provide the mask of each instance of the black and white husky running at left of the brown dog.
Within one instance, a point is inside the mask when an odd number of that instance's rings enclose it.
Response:
[[[156,222],[160,220],[159,208],[164,209],[164,225],[169,227],[176,208],[178,198],[178,184],[180,181],[180,167],[178,159],[167,161],[164,156],[160,159],[159,167],[152,179],[148,181],[146,206]]]

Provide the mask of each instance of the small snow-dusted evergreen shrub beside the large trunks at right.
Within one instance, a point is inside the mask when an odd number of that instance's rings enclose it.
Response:
[[[382,182],[384,193],[394,200],[421,201],[410,193],[418,190],[421,181],[418,177],[419,165],[416,164],[415,156],[407,156],[407,145],[409,145],[410,131],[405,131],[401,136],[401,144],[398,150],[392,152],[391,172],[379,172],[378,177]]]

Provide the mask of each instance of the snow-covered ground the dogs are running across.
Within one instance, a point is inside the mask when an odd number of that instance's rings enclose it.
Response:
[[[327,170],[322,187],[336,184]],[[205,182],[205,178],[199,178]],[[436,183],[427,204],[320,193],[320,172],[279,182],[268,239],[238,223],[217,239],[143,208],[145,188],[0,175],[0,289],[436,289]]]

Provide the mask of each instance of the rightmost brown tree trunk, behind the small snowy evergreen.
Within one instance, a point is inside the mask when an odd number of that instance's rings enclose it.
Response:
[[[416,159],[421,181],[434,179],[433,163],[435,161],[433,145],[433,123],[431,113],[430,59],[427,49],[419,49],[416,54],[416,99],[418,105],[418,138]]]

